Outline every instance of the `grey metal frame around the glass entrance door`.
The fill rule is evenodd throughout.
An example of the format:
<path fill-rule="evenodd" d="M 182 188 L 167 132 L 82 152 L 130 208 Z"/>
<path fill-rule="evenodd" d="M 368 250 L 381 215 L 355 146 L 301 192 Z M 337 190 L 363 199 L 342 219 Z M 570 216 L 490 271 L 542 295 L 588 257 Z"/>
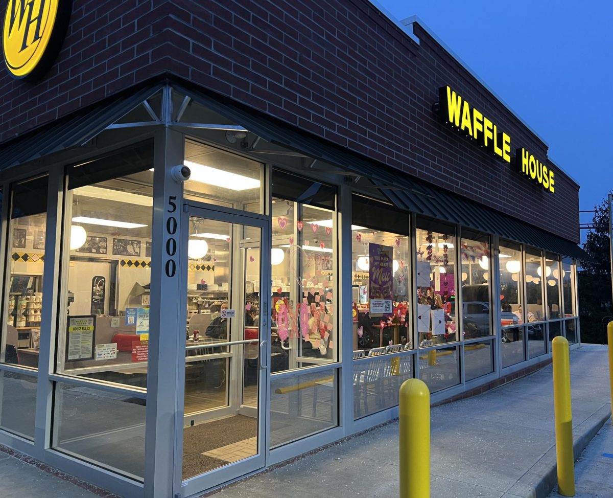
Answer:
<path fill-rule="evenodd" d="M 227 481 L 234 480 L 237 477 L 254 472 L 265 467 L 269 458 L 270 448 L 268 445 L 270 422 L 268 419 L 268 407 L 270 400 L 270 345 L 268 338 L 270 337 L 270 292 L 266 289 L 270 287 L 267 282 L 271 282 L 270 258 L 265 258 L 264 255 L 270 253 L 272 246 L 271 242 L 271 222 L 270 217 L 259 215 L 256 213 L 245 212 L 236 209 L 223 208 L 214 205 L 202 204 L 200 202 L 185 200 L 183 204 L 183 213 L 181 216 L 181 240 L 179 243 L 181 254 L 181 268 L 185 269 L 188 264 L 187 246 L 189 240 L 189 218 L 197 216 L 214 221 L 222 221 L 225 223 L 239 224 L 251 226 L 261 229 L 260 241 L 260 353 L 259 353 L 259 396 L 258 396 L 258 453 L 249 458 L 245 458 L 238 462 L 224 465 L 219 469 L 210 470 L 196 477 L 189 478 L 183 481 L 183 421 L 184 421 L 184 403 L 185 395 L 185 368 L 178 369 L 177 375 L 177 418 L 175 419 L 175 461 L 174 461 L 174 496 L 185 497 L 191 496 L 205 489 L 210 489 L 221 485 Z M 235 240 L 235 247 L 238 247 L 240 240 Z M 181 271 L 181 288 L 187 289 L 187 271 Z M 232 293 L 232 289 L 230 289 Z M 183 301 L 181 299 L 181 301 Z M 186 304 L 186 302 L 184 303 Z M 233 304 L 234 305 L 234 304 Z M 238 312 L 242 312 L 242 307 Z M 187 308 L 182 311 L 186 323 Z M 264 339 L 263 339 L 264 338 Z M 231 396 L 231 394 L 230 394 Z"/>

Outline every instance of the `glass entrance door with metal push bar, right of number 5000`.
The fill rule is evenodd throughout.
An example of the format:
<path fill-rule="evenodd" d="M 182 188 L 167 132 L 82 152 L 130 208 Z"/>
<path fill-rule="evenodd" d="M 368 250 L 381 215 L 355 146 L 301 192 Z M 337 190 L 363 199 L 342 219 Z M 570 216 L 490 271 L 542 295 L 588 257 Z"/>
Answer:
<path fill-rule="evenodd" d="M 270 232 L 263 216 L 190 206 L 181 494 L 264 467 Z"/>

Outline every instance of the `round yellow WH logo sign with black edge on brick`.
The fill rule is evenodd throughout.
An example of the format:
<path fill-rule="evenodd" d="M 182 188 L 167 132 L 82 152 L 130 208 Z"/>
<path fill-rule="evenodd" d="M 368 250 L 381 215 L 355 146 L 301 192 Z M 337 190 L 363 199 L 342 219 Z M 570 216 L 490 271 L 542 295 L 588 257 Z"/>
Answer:
<path fill-rule="evenodd" d="M 36 79 L 61 48 L 72 0 L 9 0 L 2 25 L 2 52 L 10 75 Z"/>

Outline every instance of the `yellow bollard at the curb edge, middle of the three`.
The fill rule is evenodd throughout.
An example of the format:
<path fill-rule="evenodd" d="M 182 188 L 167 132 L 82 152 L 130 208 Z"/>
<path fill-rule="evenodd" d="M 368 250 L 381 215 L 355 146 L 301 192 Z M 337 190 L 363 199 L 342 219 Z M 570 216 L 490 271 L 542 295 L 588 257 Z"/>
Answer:
<path fill-rule="evenodd" d="M 571 371 L 568 340 L 555 337 L 554 353 L 554 411 L 555 455 L 558 461 L 558 493 L 574 496 L 573 412 L 571 409 Z"/>

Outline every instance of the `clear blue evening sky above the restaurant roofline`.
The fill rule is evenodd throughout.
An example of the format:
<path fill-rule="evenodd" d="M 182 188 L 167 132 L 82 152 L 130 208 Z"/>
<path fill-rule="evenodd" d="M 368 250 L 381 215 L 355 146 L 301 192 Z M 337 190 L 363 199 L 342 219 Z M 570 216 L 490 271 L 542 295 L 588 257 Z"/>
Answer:
<path fill-rule="evenodd" d="M 378 2 L 421 18 L 545 140 L 581 185 L 580 209 L 613 190 L 613 1 Z"/>

